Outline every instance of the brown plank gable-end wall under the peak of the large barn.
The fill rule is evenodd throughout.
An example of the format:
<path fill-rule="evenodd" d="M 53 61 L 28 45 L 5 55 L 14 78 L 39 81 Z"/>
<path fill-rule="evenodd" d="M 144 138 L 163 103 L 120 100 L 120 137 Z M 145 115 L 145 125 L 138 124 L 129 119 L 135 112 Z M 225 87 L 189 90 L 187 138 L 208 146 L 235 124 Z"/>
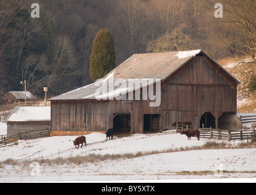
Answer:
<path fill-rule="evenodd" d="M 222 113 L 236 113 L 236 87 L 222 69 L 198 56 L 179 69 L 164 83 L 163 125 L 170 129 L 172 122 L 191 121 L 199 127 L 205 112 L 219 118 Z"/>

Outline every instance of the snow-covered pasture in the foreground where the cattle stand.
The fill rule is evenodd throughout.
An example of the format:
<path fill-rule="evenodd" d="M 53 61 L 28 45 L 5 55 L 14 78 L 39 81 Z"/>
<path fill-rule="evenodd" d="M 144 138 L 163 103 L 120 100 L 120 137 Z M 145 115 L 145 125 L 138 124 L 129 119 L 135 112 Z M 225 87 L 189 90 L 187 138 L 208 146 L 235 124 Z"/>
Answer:
<path fill-rule="evenodd" d="M 0 148 L 0 182 L 106 180 L 233 179 L 256 177 L 256 148 L 180 151 L 209 140 L 187 140 L 172 130 L 104 141 L 102 133 L 86 136 L 87 147 L 75 149 L 76 137 L 21 140 Z M 218 141 L 235 146 L 241 141 Z M 177 152 L 175 152 L 177 151 Z M 117 155 L 112 160 L 54 163 L 57 158 Z M 139 154 L 138 157 L 129 157 Z M 12 158 L 13 160 L 9 160 Z M 47 162 L 45 159 L 53 161 Z M 29 160 L 29 161 L 26 161 Z M 35 161 L 36 160 L 36 161 Z M 8 163 L 9 161 L 9 163 Z M 221 172 L 216 170 L 220 169 Z M 222 171 L 223 170 L 223 171 Z"/>

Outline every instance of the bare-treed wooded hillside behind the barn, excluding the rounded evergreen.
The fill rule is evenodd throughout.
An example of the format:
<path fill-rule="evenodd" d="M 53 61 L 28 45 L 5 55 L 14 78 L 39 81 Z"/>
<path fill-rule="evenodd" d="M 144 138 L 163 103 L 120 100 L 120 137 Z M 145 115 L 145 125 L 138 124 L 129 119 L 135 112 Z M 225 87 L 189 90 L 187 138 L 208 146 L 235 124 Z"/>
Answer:
<path fill-rule="evenodd" d="M 93 39 L 103 28 L 114 37 L 116 65 L 135 53 L 186 49 L 253 57 L 255 0 L 219 2 L 224 18 L 214 17 L 212 0 L 38 0 L 40 18 L 32 18 L 34 1 L 1 1 L 0 96 L 23 90 L 25 79 L 37 96 L 91 83 Z"/>

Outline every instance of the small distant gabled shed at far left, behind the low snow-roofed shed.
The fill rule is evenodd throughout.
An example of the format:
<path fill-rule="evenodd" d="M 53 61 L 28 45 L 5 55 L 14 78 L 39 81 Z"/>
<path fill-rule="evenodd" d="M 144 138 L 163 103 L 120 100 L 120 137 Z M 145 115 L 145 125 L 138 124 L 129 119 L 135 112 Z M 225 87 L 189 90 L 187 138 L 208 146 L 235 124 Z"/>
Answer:
<path fill-rule="evenodd" d="M 2 99 L 6 102 L 6 104 L 15 104 L 17 102 L 25 102 L 25 91 L 9 91 L 7 94 L 5 94 Z M 29 91 L 26 91 L 26 101 L 27 102 L 34 102 L 37 98 L 30 93 Z"/>

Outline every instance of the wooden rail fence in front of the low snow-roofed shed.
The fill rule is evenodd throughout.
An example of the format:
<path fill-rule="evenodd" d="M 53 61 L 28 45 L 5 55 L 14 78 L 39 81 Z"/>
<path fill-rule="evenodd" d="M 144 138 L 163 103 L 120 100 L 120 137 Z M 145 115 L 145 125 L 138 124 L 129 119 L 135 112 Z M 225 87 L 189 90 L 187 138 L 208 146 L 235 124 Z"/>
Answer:
<path fill-rule="evenodd" d="M 16 135 L 12 135 L 9 137 L 0 137 L 0 147 L 7 146 L 10 143 L 14 143 L 18 140 L 33 140 L 37 138 L 49 137 L 51 134 L 51 130 L 42 129 L 42 130 L 33 130 L 30 132 L 19 132 Z"/>

